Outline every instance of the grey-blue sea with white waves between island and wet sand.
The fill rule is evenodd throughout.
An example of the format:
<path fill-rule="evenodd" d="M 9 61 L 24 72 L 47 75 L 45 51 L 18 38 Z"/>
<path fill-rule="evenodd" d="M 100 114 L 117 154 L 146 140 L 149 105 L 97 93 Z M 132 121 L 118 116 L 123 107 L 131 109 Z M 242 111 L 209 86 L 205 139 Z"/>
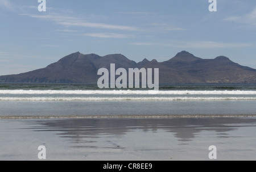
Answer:
<path fill-rule="evenodd" d="M 256 85 L 160 85 L 98 89 L 93 84 L 0 83 L 0 118 L 177 118 L 256 116 Z"/>

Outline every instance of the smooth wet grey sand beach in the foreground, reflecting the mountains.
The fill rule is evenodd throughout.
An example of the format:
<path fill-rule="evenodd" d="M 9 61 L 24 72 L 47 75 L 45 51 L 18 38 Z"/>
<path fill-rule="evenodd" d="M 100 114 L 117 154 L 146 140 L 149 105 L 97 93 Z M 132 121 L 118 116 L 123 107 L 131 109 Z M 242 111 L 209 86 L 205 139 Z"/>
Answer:
<path fill-rule="evenodd" d="M 256 118 L 1 119 L 0 160 L 256 160 Z"/>

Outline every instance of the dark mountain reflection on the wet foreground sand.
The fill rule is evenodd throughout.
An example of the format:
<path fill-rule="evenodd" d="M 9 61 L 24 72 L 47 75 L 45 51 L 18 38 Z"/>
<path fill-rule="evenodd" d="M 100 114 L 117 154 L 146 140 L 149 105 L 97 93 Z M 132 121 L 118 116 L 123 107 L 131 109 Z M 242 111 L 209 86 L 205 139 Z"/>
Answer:
<path fill-rule="evenodd" d="M 55 131 L 59 137 L 65 137 L 74 144 L 93 144 L 96 138 L 102 136 L 126 135 L 136 130 L 158 132 L 160 129 L 173 133 L 182 144 L 193 140 L 201 131 L 216 132 L 220 138 L 229 137 L 226 132 L 239 127 L 255 127 L 256 118 L 57 119 L 33 120 L 29 123 L 36 124 L 30 128 L 34 131 Z"/>

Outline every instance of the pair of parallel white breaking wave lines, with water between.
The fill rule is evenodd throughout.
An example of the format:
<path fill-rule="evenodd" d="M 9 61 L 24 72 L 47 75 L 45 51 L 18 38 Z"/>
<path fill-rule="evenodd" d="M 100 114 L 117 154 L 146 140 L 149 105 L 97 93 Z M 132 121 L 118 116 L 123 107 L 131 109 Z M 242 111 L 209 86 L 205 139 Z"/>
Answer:
<path fill-rule="evenodd" d="M 189 101 L 256 100 L 242 90 L 0 90 L 0 101 Z"/>

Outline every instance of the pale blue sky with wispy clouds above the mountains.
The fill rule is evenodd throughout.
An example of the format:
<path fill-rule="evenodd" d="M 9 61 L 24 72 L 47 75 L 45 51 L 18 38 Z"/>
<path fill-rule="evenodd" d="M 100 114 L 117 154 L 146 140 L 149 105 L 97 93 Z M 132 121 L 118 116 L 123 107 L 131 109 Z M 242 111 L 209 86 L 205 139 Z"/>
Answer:
<path fill-rule="evenodd" d="M 180 51 L 256 69 L 256 1 L 0 0 L 0 75 L 45 68 L 68 54 L 167 61 Z"/>

